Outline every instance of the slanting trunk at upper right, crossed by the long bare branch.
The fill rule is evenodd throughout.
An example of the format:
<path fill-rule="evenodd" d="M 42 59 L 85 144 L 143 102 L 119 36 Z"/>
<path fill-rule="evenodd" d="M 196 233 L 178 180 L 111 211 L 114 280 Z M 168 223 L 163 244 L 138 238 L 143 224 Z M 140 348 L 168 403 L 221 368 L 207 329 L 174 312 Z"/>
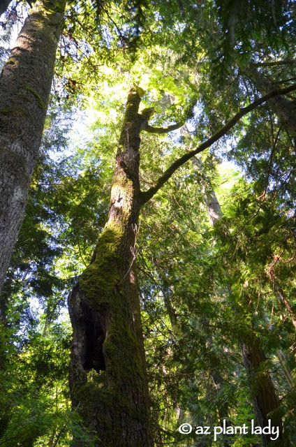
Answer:
<path fill-rule="evenodd" d="M 244 73 L 253 81 L 260 94 L 266 95 L 276 89 L 276 84 L 266 78 L 255 66 L 245 68 Z M 281 119 L 281 122 L 287 126 L 293 138 L 296 138 L 296 103 L 283 96 L 276 96 L 276 98 L 269 100 L 269 105 Z"/>

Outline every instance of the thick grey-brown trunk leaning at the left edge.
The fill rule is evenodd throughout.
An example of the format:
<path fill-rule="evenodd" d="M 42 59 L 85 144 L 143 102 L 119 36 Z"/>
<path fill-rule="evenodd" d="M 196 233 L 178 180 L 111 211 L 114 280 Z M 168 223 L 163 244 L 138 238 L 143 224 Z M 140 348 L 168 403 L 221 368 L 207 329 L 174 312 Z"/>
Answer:
<path fill-rule="evenodd" d="M 24 218 L 64 6 L 35 3 L 0 76 L 0 291 Z"/>

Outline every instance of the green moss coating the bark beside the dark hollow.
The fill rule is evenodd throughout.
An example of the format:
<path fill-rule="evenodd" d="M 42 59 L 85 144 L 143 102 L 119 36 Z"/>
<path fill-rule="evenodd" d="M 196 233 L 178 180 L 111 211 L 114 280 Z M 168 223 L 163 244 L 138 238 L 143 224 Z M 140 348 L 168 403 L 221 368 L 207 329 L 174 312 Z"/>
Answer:
<path fill-rule="evenodd" d="M 78 399 L 87 396 L 88 402 L 93 402 L 89 395 L 99 393 L 99 400 L 107 406 L 110 404 L 118 409 L 121 407 L 127 413 L 131 413 L 132 418 L 142 419 L 147 414 L 139 414 L 136 407 L 131 405 L 130 393 L 124 393 L 124 387 L 137 391 L 142 395 L 142 363 L 138 353 L 138 340 L 135 331 L 126 322 L 129 318 L 124 317 L 130 314 L 130 303 L 123 290 L 123 268 L 121 261 L 121 245 L 123 243 L 124 229 L 121 224 L 112 221 L 101 233 L 96 245 L 96 259 L 94 263 L 82 274 L 80 288 L 87 301 L 91 302 L 97 309 L 100 305 L 110 306 L 110 331 L 104 342 L 104 351 L 107 359 L 107 374 L 111 374 L 112 380 L 105 380 L 106 372 L 100 372 L 100 380 L 92 380 L 79 388 Z M 120 346 L 120 349 L 119 349 Z M 129 362 L 124 359 L 130 359 Z M 102 382 L 104 383 L 102 389 Z M 98 410 L 97 410 L 98 411 Z M 100 411 L 101 413 L 101 411 Z M 103 417 L 103 415 L 101 415 Z M 100 420 L 101 420 L 100 416 Z"/>

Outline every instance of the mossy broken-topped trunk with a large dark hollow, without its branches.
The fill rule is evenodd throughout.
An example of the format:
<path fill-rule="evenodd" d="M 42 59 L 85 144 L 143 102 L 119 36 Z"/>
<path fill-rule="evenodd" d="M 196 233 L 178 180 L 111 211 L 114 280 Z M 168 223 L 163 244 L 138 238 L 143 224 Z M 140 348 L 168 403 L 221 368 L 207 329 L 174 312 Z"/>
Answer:
<path fill-rule="evenodd" d="M 108 221 L 68 300 L 73 406 L 80 404 L 83 425 L 100 447 L 153 445 L 133 256 L 140 210 L 140 94 L 138 87 L 128 94 Z M 88 373 L 91 369 L 96 373 Z M 85 444 L 75 439 L 73 445 Z"/>

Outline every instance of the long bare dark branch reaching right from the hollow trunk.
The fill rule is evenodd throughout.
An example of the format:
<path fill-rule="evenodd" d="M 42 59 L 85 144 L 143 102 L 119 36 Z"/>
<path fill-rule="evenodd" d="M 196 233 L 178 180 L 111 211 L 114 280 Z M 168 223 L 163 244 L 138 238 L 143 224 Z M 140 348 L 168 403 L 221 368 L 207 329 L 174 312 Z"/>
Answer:
<path fill-rule="evenodd" d="M 262 105 L 266 101 L 268 101 L 270 98 L 274 98 L 275 96 L 287 94 L 290 91 L 296 90 L 296 84 L 290 85 L 290 87 L 286 87 L 285 89 L 276 89 L 274 91 L 270 91 L 269 94 L 266 94 L 265 96 L 262 96 L 259 99 L 256 99 L 256 101 L 253 101 L 253 103 L 247 105 L 246 107 L 243 107 L 237 112 L 237 114 L 232 117 L 219 131 L 214 133 L 212 137 L 210 137 L 205 142 L 202 142 L 196 149 L 193 149 L 192 151 L 186 152 L 183 156 L 181 156 L 179 159 L 175 160 L 167 170 L 161 175 L 161 177 L 158 178 L 154 186 L 151 186 L 150 189 L 147 191 L 142 191 L 140 193 L 140 201 L 141 205 L 144 205 L 147 203 L 154 194 L 158 191 L 158 189 L 161 189 L 161 187 L 165 184 L 165 182 L 172 177 L 172 175 L 175 173 L 175 171 L 180 168 L 186 161 L 190 160 L 193 156 L 196 154 L 199 154 L 200 152 L 204 151 L 208 147 L 212 146 L 212 144 L 216 141 L 218 141 L 220 138 L 222 138 L 230 129 L 232 129 L 237 122 L 239 122 L 239 119 L 244 117 L 247 113 L 251 112 L 251 110 L 254 110 L 259 105 Z"/>

